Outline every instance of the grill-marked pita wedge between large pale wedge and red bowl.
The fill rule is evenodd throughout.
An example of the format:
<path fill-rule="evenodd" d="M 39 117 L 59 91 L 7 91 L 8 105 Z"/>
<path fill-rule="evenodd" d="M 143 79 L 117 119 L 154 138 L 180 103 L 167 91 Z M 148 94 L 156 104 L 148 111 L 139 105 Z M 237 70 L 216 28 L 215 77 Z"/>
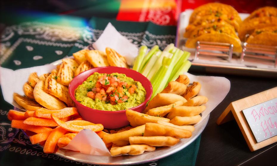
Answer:
<path fill-rule="evenodd" d="M 45 80 L 44 91 L 59 98 L 61 101 L 65 102 L 68 107 L 74 107 L 75 104 L 69 96 L 68 87 L 59 84 L 56 79 L 57 75 L 51 73 Z"/>

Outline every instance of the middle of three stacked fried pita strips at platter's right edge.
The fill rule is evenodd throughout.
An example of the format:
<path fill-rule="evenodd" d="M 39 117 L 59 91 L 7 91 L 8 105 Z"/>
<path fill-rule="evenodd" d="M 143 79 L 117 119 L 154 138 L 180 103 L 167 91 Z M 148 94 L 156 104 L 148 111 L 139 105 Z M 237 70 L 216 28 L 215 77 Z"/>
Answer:
<path fill-rule="evenodd" d="M 206 109 L 205 106 L 177 106 L 172 108 L 166 118 L 173 119 L 175 116 L 195 116 Z"/>

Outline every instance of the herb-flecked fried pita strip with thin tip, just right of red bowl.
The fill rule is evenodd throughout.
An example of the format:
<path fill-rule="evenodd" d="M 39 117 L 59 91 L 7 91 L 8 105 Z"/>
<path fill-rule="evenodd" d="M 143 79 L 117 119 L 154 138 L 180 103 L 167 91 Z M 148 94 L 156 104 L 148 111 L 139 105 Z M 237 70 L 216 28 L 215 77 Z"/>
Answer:
<path fill-rule="evenodd" d="M 183 105 L 183 101 L 176 101 L 175 103 L 169 104 L 167 106 L 149 109 L 148 112 L 146 112 L 146 114 L 151 116 L 159 115 L 160 117 L 164 117 L 166 114 L 168 114 L 171 111 L 172 108 L 176 106 L 181 106 L 181 105 Z"/>

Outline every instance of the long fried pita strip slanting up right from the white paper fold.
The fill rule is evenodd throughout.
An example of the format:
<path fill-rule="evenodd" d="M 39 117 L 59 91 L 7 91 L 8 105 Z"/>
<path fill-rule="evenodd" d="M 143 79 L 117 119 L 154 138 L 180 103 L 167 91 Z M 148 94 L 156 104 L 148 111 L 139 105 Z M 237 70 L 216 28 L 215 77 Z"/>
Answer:
<path fill-rule="evenodd" d="M 120 133 L 107 134 L 103 136 L 103 141 L 107 144 L 118 140 L 129 141 L 131 136 L 142 136 L 144 133 L 145 125 L 135 127 L 133 129 L 122 131 Z"/>

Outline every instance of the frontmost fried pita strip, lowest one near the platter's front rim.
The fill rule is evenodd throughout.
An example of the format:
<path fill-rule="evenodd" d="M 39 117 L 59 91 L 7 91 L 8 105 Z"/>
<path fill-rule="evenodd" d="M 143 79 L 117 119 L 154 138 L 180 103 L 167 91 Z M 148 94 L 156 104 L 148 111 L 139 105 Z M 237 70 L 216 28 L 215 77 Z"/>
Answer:
<path fill-rule="evenodd" d="M 128 145 L 123 147 L 112 147 L 110 152 L 112 156 L 117 156 L 119 154 L 129 154 L 129 155 L 139 155 L 143 154 L 145 151 L 155 151 L 155 147 L 149 145 Z"/>

